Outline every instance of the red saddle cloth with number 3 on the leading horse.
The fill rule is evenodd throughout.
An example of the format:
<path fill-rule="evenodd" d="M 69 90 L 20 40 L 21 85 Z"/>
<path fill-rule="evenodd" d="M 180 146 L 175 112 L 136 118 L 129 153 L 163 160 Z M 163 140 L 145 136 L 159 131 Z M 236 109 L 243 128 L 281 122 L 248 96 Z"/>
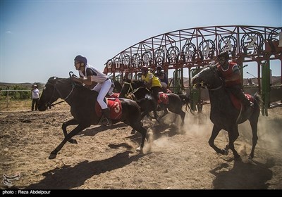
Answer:
<path fill-rule="evenodd" d="M 106 105 L 110 109 L 111 120 L 118 120 L 121 118 L 123 109 L 121 107 L 121 101 L 118 98 L 104 98 Z M 98 117 L 102 117 L 102 108 L 98 102 L 95 103 L 95 112 Z"/>

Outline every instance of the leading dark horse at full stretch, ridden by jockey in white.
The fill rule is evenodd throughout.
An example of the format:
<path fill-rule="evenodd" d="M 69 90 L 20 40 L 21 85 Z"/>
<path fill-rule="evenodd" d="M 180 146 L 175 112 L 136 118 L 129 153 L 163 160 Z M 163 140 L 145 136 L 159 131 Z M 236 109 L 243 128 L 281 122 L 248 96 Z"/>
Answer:
<path fill-rule="evenodd" d="M 63 122 L 62 129 L 65 138 L 57 146 L 54 151 L 51 152 L 49 159 L 56 158 L 56 154 L 63 148 L 67 141 L 77 144 L 75 139 L 71 139 L 73 136 L 82 132 L 83 129 L 90 127 L 90 125 L 98 125 L 100 117 L 95 110 L 95 103 L 97 103 L 97 91 L 90 91 L 82 85 L 75 84 L 71 78 L 58 78 L 50 77 L 47 84 L 44 87 L 41 97 L 39 98 L 38 109 L 40 111 L 46 110 L 47 107 L 51 108 L 51 104 L 58 98 L 62 98 L 71 106 L 71 114 L 73 119 Z M 142 127 L 140 107 L 135 101 L 130 99 L 120 99 L 121 106 L 116 105 L 115 110 L 122 108 L 121 116 L 116 120 L 112 120 L 113 124 L 116 122 L 124 122 L 130 125 L 137 132 L 142 134 L 142 140 L 140 151 L 145 143 L 147 129 Z M 98 104 L 99 105 L 99 104 Z M 66 127 L 69 125 L 78 125 L 71 132 L 67 132 Z"/>

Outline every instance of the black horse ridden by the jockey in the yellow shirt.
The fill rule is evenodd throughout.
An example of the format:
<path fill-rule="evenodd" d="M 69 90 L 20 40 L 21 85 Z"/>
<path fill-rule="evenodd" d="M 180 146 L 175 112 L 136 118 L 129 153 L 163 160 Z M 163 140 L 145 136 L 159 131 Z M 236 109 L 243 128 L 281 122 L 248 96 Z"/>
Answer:
<path fill-rule="evenodd" d="M 130 95 L 134 95 L 135 98 L 141 99 L 145 98 L 146 95 L 152 96 L 151 91 L 145 87 L 145 84 L 142 81 L 138 80 L 125 80 L 123 84 L 123 88 L 121 89 L 120 98 L 127 98 Z M 168 96 L 168 103 L 163 104 L 163 108 L 157 108 L 157 110 L 164 110 L 164 115 L 168 113 L 168 110 L 172 113 L 176 113 L 180 115 L 181 117 L 181 126 L 184 125 L 184 118 L 185 118 L 185 112 L 182 110 L 182 99 L 177 95 L 173 93 L 166 93 Z M 164 117 L 162 115 L 161 117 Z M 175 117 L 176 118 L 176 117 Z M 176 122 L 176 119 L 174 120 Z"/>

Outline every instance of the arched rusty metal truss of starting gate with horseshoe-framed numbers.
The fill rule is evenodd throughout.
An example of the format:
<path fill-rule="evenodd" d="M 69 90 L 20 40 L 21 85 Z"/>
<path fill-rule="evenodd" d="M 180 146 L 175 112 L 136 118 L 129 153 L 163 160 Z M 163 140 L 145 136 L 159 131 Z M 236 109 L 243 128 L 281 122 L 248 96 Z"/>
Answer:
<path fill-rule="evenodd" d="M 190 76 L 191 68 L 215 63 L 221 51 L 228 51 L 242 69 L 244 62 L 257 62 L 257 76 L 262 61 L 280 60 L 282 72 L 282 27 L 226 25 L 159 34 L 109 59 L 104 73 L 133 79 L 143 65 L 152 70 L 161 65 L 165 72 L 188 68 Z M 180 79 L 183 88 L 183 72 Z"/>

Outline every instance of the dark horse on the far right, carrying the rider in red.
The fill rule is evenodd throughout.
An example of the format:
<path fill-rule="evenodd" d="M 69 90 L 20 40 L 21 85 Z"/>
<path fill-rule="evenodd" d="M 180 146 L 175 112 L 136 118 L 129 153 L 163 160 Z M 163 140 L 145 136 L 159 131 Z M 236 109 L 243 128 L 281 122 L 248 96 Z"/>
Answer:
<path fill-rule="evenodd" d="M 210 119 L 214 123 L 212 136 L 209 139 L 209 146 L 212 146 L 216 153 L 223 155 L 228 154 L 228 148 L 233 151 L 235 159 L 240 158 L 240 155 L 235 151 L 234 141 L 238 138 L 238 124 L 250 121 L 252 127 L 252 151 L 249 159 L 254 158 L 255 146 L 257 144 L 257 122 L 259 119 L 259 106 L 262 105 L 262 98 L 259 94 L 251 96 L 252 102 L 255 104 L 251 111 L 245 112 L 235 108 L 231 101 L 231 97 L 224 87 L 221 77 L 215 65 L 206 66 L 201 72 L 192 77 L 194 87 L 200 88 L 201 85 L 209 89 L 209 98 L 211 102 Z M 228 132 L 229 143 L 226 148 L 219 149 L 214 145 L 214 139 L 219 134 L 221 129 Z"/>

